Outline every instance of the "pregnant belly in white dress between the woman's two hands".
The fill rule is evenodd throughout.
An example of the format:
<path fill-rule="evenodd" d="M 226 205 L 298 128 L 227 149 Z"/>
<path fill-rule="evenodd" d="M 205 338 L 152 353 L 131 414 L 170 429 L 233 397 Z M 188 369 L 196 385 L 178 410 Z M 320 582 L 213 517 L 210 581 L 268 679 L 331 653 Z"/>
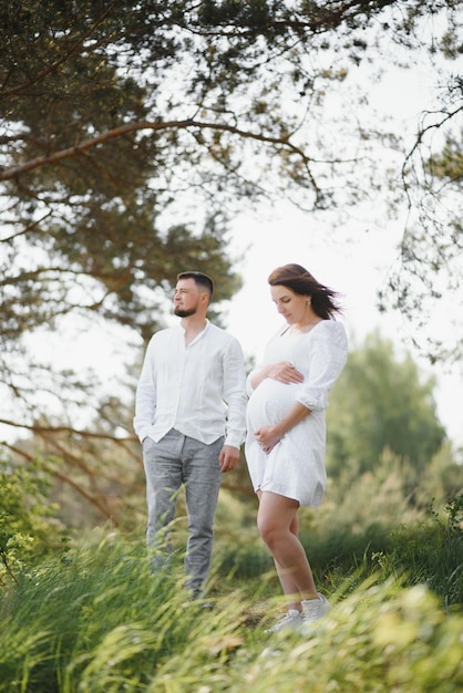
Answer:
<path fill-rule="evenodd" d="M 254 430 L 271 426 L 282 418 L 296 401 L 300 385 L 287 385 L 271 377 L 264 380 L 248 402 L 249 423 Z"/>

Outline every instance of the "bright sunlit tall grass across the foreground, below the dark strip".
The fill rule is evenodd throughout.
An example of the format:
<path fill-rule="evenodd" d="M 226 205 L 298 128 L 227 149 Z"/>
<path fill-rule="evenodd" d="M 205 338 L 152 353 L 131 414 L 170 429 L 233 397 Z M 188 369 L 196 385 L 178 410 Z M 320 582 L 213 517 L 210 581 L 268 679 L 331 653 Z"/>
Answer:
<path fill-rule="evenodd" d="M 450 544 L 460 537 L 453 531 Z M 2 594 L 0 691 L 462 690 L 463 616 L 424 585 L 408 586 L 399 569 L 388 577 L 390 566 L 372 570 L 364 558 L 347 578 L 328 573 L 333 609 L 312 632 L 269 637 L 264 627 L 282 604 L 268 557 L 244 536 L 232 546 L 216 546 L 212 611 L 186 599 L 179 557 L 168 572 L 150 575 L 141 542 L 97 534 L 42 560 Z M 403 546 L 392 539 L 404 565 Z M 327 557 L 315 559 L 325 565 Z"/>

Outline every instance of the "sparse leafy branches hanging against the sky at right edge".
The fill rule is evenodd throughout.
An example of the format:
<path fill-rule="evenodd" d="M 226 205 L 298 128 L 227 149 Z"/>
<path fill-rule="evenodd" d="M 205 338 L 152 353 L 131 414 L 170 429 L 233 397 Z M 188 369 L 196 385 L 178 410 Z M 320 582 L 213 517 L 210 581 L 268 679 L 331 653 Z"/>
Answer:
<path fill-rule="evenodd" d="M 455 35 L 450 40 L 447 50 L 453 55 Z M 392 306 L 413 320 L 415 345 L 431 363 L 457 362 L 462 358 L 461 320 L 455 311 L 463 301 L 462 95 L 463 79 L 456 75 L 439 108 L 423 114 L 416 142 L 402 168 L 409 221 L 397 266 L 379 296 L 383 310 Z M 449 123 L 453 124 L 450 130 Z M 442 142 L 442 148 L 435 146 L 435 141 Z M 450 297 L 450 303 L 444 302 L 445 297 Z M 443 321 L 445 313 L 451 317 Z"/>

